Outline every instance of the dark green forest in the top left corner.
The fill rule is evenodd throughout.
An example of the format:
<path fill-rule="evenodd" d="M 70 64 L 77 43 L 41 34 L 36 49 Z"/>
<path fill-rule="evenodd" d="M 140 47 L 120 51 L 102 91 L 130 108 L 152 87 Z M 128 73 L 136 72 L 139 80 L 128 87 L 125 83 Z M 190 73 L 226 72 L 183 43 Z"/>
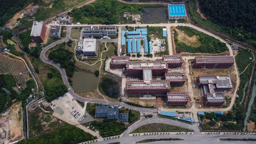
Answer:
<path fill-rule="evenodd" d="M 1 0 L 0 4 L 0 27 L 3 26 L 7 20 L 13 17 L 15 13 L 26 7 L 29 3 L 34 4 L 40 0 Z"/>

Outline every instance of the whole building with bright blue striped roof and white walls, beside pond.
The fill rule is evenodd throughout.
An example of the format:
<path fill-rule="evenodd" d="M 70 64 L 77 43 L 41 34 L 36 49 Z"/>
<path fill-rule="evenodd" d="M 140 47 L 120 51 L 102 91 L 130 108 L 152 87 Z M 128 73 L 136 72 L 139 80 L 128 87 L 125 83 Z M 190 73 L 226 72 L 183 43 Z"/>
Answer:
<path fill-rule="evenodd" d="M 186 17 L 186 9 L 184 4 L 169 4 L 168 18 L 169 20 L 184 20 Z"/>

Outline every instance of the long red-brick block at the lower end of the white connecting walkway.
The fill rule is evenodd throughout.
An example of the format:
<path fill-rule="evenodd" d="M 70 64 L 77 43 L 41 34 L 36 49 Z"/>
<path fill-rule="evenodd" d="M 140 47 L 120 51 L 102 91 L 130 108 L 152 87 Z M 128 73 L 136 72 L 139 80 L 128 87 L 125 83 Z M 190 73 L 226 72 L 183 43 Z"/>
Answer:
<path fill-rule="evenodd" d="M 166 95 L 171 89 L 170 81 L 152 80 L 145 83 L 143 80 L 126 81 L 126 94 L 139 95 Z"/>

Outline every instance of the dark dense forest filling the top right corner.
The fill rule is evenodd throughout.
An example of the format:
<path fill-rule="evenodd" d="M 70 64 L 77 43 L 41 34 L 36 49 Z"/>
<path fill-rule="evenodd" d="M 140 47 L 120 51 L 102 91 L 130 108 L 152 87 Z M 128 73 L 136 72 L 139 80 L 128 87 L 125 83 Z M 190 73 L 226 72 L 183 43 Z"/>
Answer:
<path fill-rule="evenodd" d="M 226 32 L 233 38 L 255 44 L 255 0 L 198 0 L 198 2 L 201 12 L 208 20 L 229 28 Z"/>

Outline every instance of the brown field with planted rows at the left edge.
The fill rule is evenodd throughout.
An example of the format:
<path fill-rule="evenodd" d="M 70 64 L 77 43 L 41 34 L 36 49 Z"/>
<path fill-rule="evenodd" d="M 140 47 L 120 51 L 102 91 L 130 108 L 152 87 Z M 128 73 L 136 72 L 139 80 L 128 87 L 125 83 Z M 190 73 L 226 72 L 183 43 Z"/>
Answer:
<path fill-rule="evenodd" d="M 0 54 L 0 74 L 15 76 L 18 84 L 30 79 L 30 74 L 23 61 Z"/>

